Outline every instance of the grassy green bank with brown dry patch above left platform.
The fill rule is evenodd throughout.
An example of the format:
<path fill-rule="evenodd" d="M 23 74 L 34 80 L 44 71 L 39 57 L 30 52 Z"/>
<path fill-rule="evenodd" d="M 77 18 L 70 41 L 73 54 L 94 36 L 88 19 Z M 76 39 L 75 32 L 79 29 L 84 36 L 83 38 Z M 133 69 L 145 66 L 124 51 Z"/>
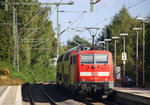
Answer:
<path fill-rule="evenodd" d="M 0 76 L 0 85 L 20 85 L 25 82 L 36 83 L 43 81 L 55 81 L 55 67 L 34 65 L 33 67 L 20 67 L 20 71 L 13 69 L 13 65 L 0 62 L 0 67 L 9 70 L 9 75 Z M 2 82 L 5 81 L 5 82 Z"/>

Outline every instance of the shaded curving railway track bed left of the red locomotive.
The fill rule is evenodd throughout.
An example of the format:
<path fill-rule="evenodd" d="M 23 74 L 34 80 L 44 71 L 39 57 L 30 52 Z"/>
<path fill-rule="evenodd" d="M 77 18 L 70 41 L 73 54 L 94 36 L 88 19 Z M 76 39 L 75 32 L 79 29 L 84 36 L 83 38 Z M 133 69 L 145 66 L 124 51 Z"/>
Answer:
<path fill-rule="evenodd" d="M 70 91 L 53 83 L 30 84 L 28 86 L 30 105 L 117 105 L 111 101 L 97 101 L 73 96 Z"/>

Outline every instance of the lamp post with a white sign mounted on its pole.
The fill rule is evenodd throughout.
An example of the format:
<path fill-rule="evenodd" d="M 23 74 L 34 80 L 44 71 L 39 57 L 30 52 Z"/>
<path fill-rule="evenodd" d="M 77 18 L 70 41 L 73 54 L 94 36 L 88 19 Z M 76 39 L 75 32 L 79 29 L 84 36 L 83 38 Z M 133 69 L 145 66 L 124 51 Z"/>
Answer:
<path fill-rule="evenodd" d="M 123 77 L 125 77 L 125 72 L 126 72 L 126 58 L 127 58 L 127 54 L 125 51 L 125 37 L 128 36 L 128 33 L 121 33 L 120 36 L 123 36 L 123 53 L 122 53 L 122 60 L 123 60 Z"/>

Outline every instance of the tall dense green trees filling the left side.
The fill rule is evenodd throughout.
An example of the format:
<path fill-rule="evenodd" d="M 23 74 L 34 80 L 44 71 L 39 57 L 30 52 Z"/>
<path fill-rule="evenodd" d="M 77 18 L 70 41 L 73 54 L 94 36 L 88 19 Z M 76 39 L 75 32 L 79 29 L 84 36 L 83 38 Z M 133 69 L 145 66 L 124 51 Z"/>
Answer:
<path fill-rule="evenodd" d="M 15 0 L 13 2 L 33 3 L 38 0 Z M 19 5 L 15 8 L 17 22 L 23 23 L 23 25 L 18 25 L 17 32 L 20 72 L 12 66 L 14 59 L 12 25 L 0 24 L 0 67 L 7 67 L 11 72 L 10 76 L 26 82 L 55 80 L 55 69 L 49 67 L 49 61 L 56 56 L 57 48 L 52 22 L 48 19 L 50 8 L 40 5 Z M 0 1 L 0 23 L 12 23 L 12 10 L 13 7 L 9 5 L 6 12 Z"/>

